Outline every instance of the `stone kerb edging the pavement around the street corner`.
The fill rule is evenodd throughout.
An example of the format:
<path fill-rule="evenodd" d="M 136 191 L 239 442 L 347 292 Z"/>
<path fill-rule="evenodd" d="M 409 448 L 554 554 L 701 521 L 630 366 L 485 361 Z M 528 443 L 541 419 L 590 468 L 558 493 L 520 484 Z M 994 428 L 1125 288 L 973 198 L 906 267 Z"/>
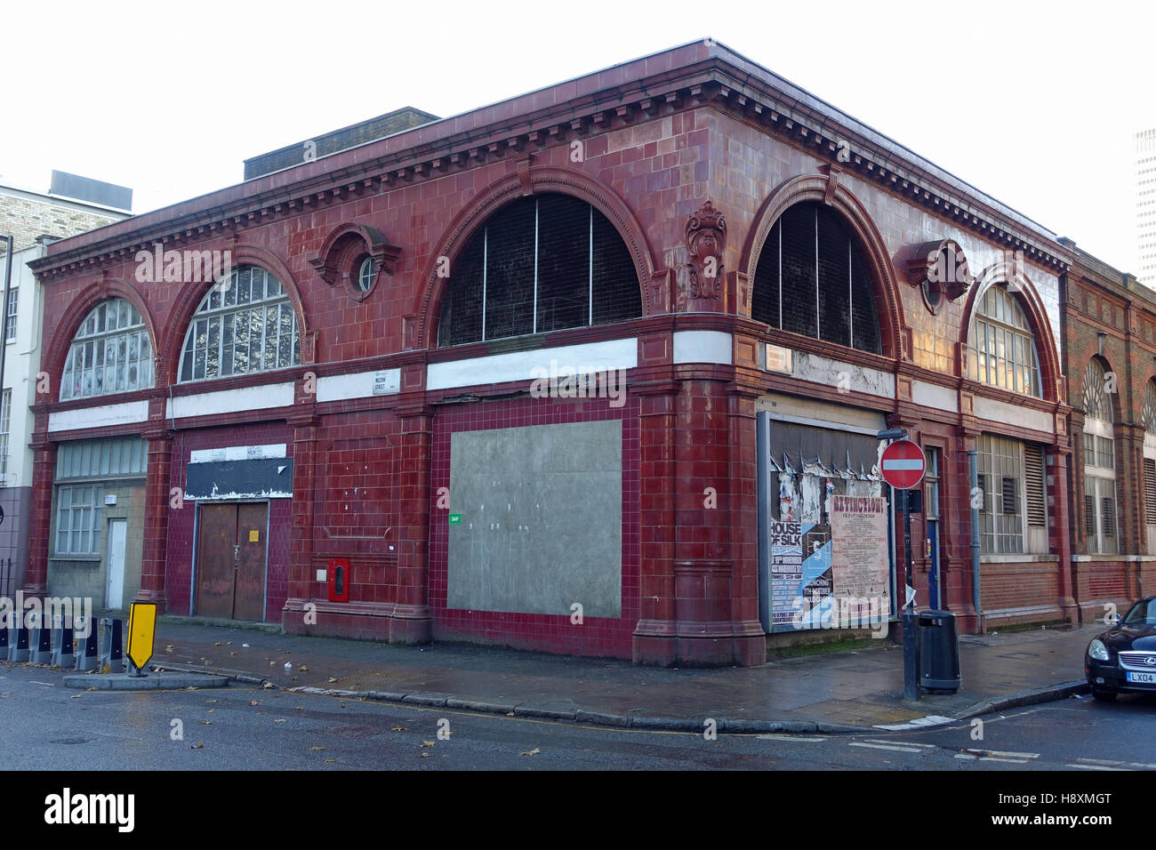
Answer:
<path fill-rule="evenodd" d="M 188 673 L 205 674 L 206 671 L 195 667 L 175 667 L 166 665 L 166 671 L 181 671 Z M 258 685 L 267 688 L 281 688 L 281 686 L 258 677 L 232 673 L 229 671 L 213 671 L 213 674 L 224 677 L 228 680 L 245 685 Z M 90 677 L 84 677 L 90 679 Z M 453 694 L 439 693 L 415 693 L 415 692 L 387 692 L 387 690 L 343 690 L 340 688 L 318 688 L 310 685 L 299 685 L 284 688 L 299 694 L 313 694 L 314 696 L 336 696 L 342 700 L 368 700 L 372 702 L 390 702 L 401 705 L 418 705 L 422 708 L 452 708 L 480 714 L 494 714 L 514 717 L 533 717 L 538 719 L 557 720 L 563 723 L 581 723 L 594 726 L 607 726 L 618 729 L 644 729 L 649 731 L 664 732 L 688 732 L 702 733 L 705 726 L 703 719 L 688 719 L 684 717 L 644 717 L 639 715 L 606 715 L 596 711 L 585 711 L 576 709 L 572 711 L 560 711 L 556 709 L 540 708 L 527 703 L 492 703 L 480 700 L 460 699 Z M 1040 688 L 1016 692 L 995 700 L 985 700 L 972 703 L 959 711 L 955 717 L 941 723 L 920 724 L 920 729 L 932 729 L 946 726 L 951 723 L 978 717 L 992 711 L 1003 711 L 1022 705 L 1035 705 L 1042 702 L 1064 700 L 1072 694 L 1085 693 L 1090 688 L 1083 680 L 1062 682 Z M 713 718 L 717 729 L 722 734 L 879 734 L 876 726 L 853 726 L 838 723 L 823 723 L 820 720 L 757 720 L 749 718 Z"/>

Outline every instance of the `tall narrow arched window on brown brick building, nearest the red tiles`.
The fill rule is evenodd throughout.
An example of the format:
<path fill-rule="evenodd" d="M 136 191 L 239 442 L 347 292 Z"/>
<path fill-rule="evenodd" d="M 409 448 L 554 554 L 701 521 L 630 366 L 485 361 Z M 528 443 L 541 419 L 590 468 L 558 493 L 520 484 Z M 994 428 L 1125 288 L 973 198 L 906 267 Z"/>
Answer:
<path fill-rule="evenodd" d="M 1089 554 L 1117 552 L 1113 389 L 1103 364 L 1090 360 L 1083 383 L 1084 534 Z"/>

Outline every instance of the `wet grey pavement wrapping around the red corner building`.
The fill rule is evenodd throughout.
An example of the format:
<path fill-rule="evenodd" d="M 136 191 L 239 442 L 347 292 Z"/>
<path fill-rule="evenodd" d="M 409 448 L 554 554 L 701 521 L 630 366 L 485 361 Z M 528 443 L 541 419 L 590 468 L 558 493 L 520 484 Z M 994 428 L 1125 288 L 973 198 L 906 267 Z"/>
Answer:
<path fill-rule="evenodd" d="M 919 701 L 904 699 L 903 649 L 887 640 L 758 667 L 659 668 L 460 643 L 298 637 L 161 616 L 149 666 L 351 700 L 606 726 L 702 731 L 713 719 L 719 732 L 852 733 L 938 725 L 1087 694 L 1083 652 L 1103 629 L 963 635 L 961 689 Z"/>

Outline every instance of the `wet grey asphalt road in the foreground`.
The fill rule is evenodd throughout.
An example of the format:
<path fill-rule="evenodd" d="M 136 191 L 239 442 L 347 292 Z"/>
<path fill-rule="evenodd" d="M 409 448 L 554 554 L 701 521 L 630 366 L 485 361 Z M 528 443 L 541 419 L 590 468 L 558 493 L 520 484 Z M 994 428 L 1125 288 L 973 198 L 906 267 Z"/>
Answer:
<path fill-rule="evenodd" d="M 228 687 L 74 690 L 0 665 L 9 770 L 1156 770 L 1156 697 L 858 736 L 625 731 Z"/>

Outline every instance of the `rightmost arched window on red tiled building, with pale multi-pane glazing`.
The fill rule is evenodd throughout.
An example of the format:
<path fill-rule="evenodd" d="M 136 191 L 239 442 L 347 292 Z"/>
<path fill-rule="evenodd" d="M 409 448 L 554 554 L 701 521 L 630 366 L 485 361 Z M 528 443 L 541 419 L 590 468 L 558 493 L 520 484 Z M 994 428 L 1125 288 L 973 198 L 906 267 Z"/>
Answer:
<path fill-rule="evenodd" d="M 990 287 L 976 304 L 968 331 L 968 374 L 992 386 L 1042 396 L 1031 326 L 1002 283 Z"/>

